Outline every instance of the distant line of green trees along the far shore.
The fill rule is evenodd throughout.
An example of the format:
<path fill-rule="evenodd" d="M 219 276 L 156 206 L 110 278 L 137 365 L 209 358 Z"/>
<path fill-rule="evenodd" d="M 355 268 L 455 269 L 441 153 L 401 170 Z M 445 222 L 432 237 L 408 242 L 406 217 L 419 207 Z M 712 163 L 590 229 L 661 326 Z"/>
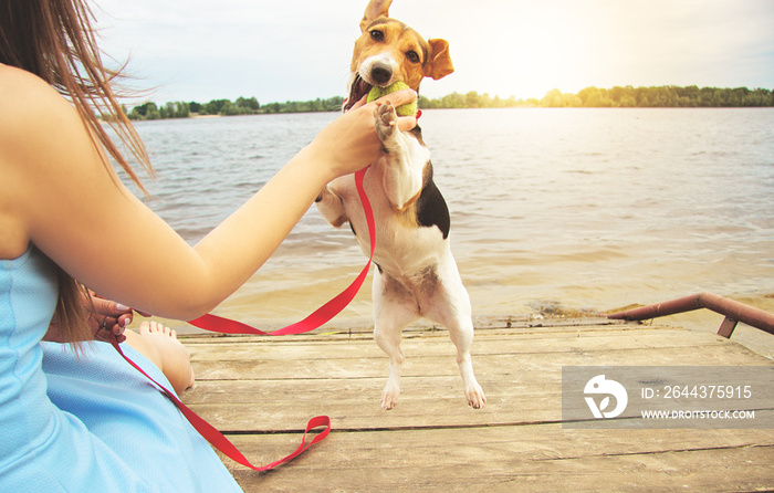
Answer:
<path fill-rule="evenodd" d="M 130 119 L 188 118 L 192 115 L 260 115 L 274 113 L 338 112 L 344 98 L 287 101 L 261 105 L 255 97 L 239 97 L 237 101 L 212 99 L 209 103 L 174 102 L 157 106 L 145 103 L 127 113 Z M 467 94 L 451 93 L 443 97 L 419 97 L 419 107 L 433 108 L 511 108 L 511 107 L 760 107 L 774 106 L 774 93 L 766 88 L 747 87 L 718 88 L 695 85 L 625 87 L 586 87 L 577 94 L 550 91 L 542 99 L 516 99 L 515 96 L 501 98 L 488 93 L 471 91 Z"/>

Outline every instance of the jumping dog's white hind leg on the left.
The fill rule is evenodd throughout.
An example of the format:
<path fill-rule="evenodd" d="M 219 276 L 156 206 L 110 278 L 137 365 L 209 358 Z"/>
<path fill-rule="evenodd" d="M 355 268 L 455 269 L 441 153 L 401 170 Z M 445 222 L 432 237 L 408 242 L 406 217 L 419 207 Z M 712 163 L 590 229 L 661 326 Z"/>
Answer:
<path fill-rule="evenodd" d="M 408 290 L 390 276 L 374 273 L 374 339 L 389 356 L 389 377 L 381 392 L 381 409 L 393 409 L 400 396 L 404 327 L 419 318 L 417 302 Z"/>

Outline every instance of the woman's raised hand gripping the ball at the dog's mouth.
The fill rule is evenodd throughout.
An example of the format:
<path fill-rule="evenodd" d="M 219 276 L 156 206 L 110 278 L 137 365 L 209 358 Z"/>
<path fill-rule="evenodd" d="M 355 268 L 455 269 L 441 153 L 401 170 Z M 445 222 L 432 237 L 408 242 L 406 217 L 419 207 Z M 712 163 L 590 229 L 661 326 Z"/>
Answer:
<path fill-rule="evenodd" d="M 316 160 L 330 166 L 331 179 L 355 172 L 378 159 L 384 151 L 376 134 L 374 108 L 387 102 L 398 107 L 416 99 L 417 93 L 412 90 L 396 91 L 370 103 L 366 103 L 364 96 L 352 109 L 323 128 L 307 150 L 314 153 Z M 416 117 L 398 117 L 399 130 L 410 130 L 416 126 Z"/>

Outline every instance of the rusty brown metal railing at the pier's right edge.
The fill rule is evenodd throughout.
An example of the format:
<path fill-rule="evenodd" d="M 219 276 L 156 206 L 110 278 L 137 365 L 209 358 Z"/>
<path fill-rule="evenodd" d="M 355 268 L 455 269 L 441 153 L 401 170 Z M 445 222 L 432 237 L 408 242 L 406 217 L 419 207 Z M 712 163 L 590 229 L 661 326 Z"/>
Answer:
<path fill-rule="evenodd" d="M 711 310 L 721 315 L 725 315 L 725 319 L 723 319 L 723 323 L 718 329 L 718 334 L 725 338 L 731 337 L 734 328 L 736 328 L 736 324 L 740 322 L 760 328 L 768 334 L 774 334 L 774 314 L 712 293 L 692 294 L 690 296 L 683 296 L 641 308 L 627 310 L 626 312 L 608 315 L 608 318 L 647 321 L 700 308 Z"/>

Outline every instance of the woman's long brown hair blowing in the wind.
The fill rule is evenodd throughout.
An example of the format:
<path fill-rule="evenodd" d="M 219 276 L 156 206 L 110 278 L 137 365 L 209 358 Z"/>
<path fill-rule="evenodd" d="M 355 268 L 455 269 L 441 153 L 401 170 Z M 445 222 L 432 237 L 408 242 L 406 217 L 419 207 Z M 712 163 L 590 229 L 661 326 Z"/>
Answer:
<path fill-rule="evenodd" d="M 139 178 L 102 125 L 102 118 L 149 175 L 145 145 L 114 93 L 123 67 L 102 63 L 92 27 L 94 15 L 84 0 L 0 0 L 0 63 L 31 72 L 69 98 L 95 146 L 107 154 L 145 190 Z M 111 162 L 104 161 L 106 167 Z M 85 291 L 60 269 L 60 295 L 53 322 L 67 340 L 92 338 L 83 308 Z"/>

